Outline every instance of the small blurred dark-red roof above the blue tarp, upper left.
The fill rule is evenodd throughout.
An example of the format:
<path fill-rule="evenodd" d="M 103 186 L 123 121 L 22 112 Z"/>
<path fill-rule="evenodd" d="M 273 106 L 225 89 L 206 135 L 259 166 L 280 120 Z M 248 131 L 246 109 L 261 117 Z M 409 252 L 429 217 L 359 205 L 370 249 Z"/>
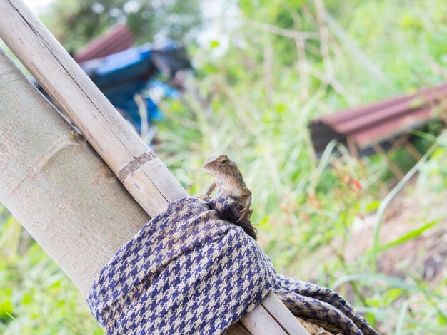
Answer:
<path fill-rule="evenodd" d="M 74 59 L 76 62 L 81 63 L 89 61 L 89 59 L 109 56 L 112 53 L 130 48 L 134 40 L 134 33 L 128 26 L 117 24 L 76 52 Z"/>

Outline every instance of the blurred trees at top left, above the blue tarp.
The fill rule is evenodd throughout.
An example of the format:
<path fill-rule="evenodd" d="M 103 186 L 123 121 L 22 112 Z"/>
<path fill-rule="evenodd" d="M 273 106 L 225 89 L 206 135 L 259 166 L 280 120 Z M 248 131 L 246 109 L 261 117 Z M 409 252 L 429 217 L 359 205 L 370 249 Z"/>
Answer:
<path fill-rule="evenodd" d="M 69 51 L 124 22 L 138 43 L 156 38 L 181 41 L 201 24 L 199 4 L 199 0 L 56 0 L 41 20 Z"/>

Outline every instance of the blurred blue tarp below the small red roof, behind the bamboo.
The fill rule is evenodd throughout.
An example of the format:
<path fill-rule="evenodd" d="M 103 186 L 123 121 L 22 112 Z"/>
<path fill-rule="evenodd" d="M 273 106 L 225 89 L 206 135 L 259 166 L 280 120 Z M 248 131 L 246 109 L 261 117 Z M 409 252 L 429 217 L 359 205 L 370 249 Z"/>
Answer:
<path fill-rule="evenodd" d="M 159 48 L 144 44 L 80 63 L 79 66 L 104 96 L 139 130 L 141 120 L 134 95 L 159 87 L 165 96 L 173 96 L 176 93 L 175 88 L 154 78 L 159 73 L 163 73 L 168 79 L 174 78 L 177 71 L 191 68 L 191 63 L 182 46 L 169 43 Z M 39 90 L 43 91 L 41 88 Z M 147 120 L 150 123 L 154 118 L 160 118 L 161 113 L 154 101 L 147 97 L 145 99 Z"/>

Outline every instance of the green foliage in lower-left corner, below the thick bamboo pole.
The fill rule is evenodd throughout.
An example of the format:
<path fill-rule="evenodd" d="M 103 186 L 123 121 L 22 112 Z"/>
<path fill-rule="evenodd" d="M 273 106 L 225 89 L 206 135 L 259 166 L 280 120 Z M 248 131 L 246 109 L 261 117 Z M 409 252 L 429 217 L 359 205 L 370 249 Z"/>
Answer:
<path fill-rule="evenodd" d="M 0 259 L 1 334 L 103 334 L 66 274 L 11 216 L 0 225 Z"/>

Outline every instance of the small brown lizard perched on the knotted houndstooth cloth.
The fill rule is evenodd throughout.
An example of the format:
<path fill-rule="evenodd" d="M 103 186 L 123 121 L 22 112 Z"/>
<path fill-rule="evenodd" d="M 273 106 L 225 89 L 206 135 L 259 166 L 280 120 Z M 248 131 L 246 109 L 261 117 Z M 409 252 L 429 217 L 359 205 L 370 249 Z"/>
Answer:
<path fill-rule="evenodd" d="M 241 171 L 236 163 L 230 160 L 227 155 L 211 156 L 204 163 L 204 169 L 216 180 L 211 184 L 202 199 L 208 198 L 217 187 L 216 195 L 218 197 L 231 196 L 241 202 L 243 210 L 241 211 L 241 220 L 250 220 L 251 212 L 251 191 L 246 187 Z"/>

